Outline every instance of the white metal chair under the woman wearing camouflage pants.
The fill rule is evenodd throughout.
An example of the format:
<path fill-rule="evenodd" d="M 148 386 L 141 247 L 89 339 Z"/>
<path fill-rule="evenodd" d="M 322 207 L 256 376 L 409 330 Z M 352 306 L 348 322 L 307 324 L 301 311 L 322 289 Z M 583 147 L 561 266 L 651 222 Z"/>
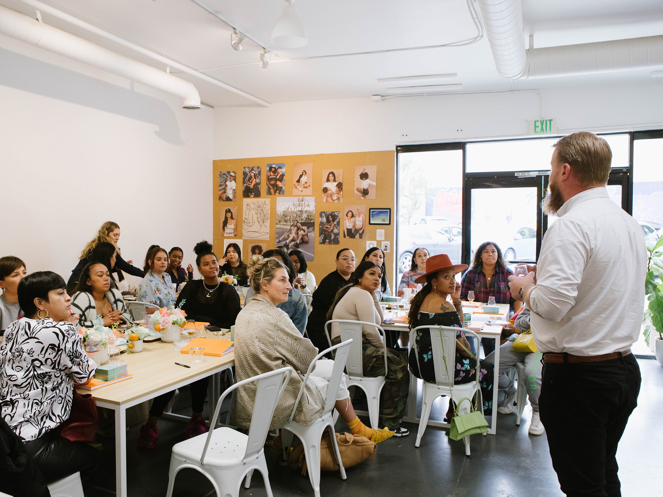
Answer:
<path fill-rule="evenodd" d="M 350 353 L 345 364 L 345 372 L 347 373 L 348 380 L 347 387 L 358 386 L 366 394 L 366 400 L 369 408 L 369 419 L 371 420 L 371 428 L 380 429 L 378 426 L 380 415 L 380 393 L 383 386 L 385 386 L 385 376 L 387 376 L 387 336 L 385 330 L 376 325 L 375 323 L 368 323 L 367 321 L 351 321 L 350 319 L 331 319 L 325 323 L 325 333 L 327 341 L 331 346 L 331 339 L 329 333 L 329 326 L 331 323 L 338 323 L 341 331 L 341 341 L 352 339 L 350 346 Z M 361 341 L 361 325 L 369 325 L 376 327 L 383 338 L 383 353 L 385 356 L 385 376 L 364 376 L 363 373 L 363 351 Z"/>

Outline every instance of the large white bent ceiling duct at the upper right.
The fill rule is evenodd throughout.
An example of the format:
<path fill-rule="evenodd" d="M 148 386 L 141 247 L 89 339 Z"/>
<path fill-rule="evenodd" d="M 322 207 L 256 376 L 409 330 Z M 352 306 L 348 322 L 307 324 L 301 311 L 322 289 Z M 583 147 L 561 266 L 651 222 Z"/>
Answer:
<path fill-rule="evenodd" d="M 663 36 L 525 48 L 521 0 L 479 0 L 500 76 L 553 78 L 663 66 Z"/>

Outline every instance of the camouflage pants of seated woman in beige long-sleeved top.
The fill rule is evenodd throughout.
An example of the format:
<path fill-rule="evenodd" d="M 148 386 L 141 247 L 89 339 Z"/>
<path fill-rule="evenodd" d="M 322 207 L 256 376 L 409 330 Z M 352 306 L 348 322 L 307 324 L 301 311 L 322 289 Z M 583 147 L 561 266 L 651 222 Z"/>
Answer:
<path fill-rule="evenodd" d="M 341 337 L 331 341 L 332 345 L 341 343 Z M 385 355 L 369 343 L 366 337 L 362 341 L 363 373 L 365 376 L 383 376 L 385 374 Z M 405 414 L 410 386 L 408 372 L 408 351 L 387 349 L 387 375 L 385 386 L 380 394 L 379 427 L 397 429 Z"/>

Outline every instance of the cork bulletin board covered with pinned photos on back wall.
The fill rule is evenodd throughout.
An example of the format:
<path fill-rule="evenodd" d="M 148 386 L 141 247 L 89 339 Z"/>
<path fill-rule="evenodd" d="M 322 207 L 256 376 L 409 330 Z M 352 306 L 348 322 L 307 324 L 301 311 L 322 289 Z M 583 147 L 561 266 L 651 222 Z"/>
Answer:
<path fill-rule="evenodd" d="M 281 165 L 280 170 L 278 165 Z M 308 270 L 316 276 L 316 282 L 320 282 L 335 269 L 339 249 L 347 247 L 359 259 L 370 242 L 382 247 L 387 241 L 391 246 L 391 250 L 385 252 L 387 278 L 394 292 L 394 168 L 393 150 L 214 160 L 214 250 L 221 258 L 226 239 L 241 239 L 242 259 L 247 260 L 251 248 L 257 250 L 255 245 L 267 250 L 288 243 L 292 250 L 296 248 L 297 238 L 299 249 L 306 253 Z M 231 171 L 235 172 L 234 176 L 229 174 Z M 362 172 L 367 172 L 369 177 Z M 251 183 L 247 184 L 247 180 Z M 369 190 L 366 195 L 362 186 Z M 226 209 L 233 213 L 230 221 L 231 225 L 234 221 L 235 226 L 233 237 L 224 237 L 221 231 Z M 369 225 L 369 209 L 391 209 L 391 224 Z M 351 211 L 351 215 L 347 211 Z M 363 223 L 360 222 L 363 231 L 355 238 L 344 236 L 355 234 L 351 229 L 346 231 L 346 222 L 351 223 L 352 215 L 357 217 L 357 214 L 360 219 L 363 216 Z M 324 219 L 322 225 L 321 219 Z M 296 223 L 299 224 L 295 226 Z M 377 239 L 377 229 L 385 231 L 383 240 Z"/>

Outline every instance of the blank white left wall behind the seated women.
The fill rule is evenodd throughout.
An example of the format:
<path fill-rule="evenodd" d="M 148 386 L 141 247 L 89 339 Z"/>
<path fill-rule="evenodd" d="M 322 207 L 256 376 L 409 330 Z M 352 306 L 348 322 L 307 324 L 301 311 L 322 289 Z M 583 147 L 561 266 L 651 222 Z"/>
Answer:
<path fill-rule="evenodd" d="M 65 280 L 104 221 L 125 259 L 212 241 L 213 112 L 0 36 L 0 256 Z"/>

